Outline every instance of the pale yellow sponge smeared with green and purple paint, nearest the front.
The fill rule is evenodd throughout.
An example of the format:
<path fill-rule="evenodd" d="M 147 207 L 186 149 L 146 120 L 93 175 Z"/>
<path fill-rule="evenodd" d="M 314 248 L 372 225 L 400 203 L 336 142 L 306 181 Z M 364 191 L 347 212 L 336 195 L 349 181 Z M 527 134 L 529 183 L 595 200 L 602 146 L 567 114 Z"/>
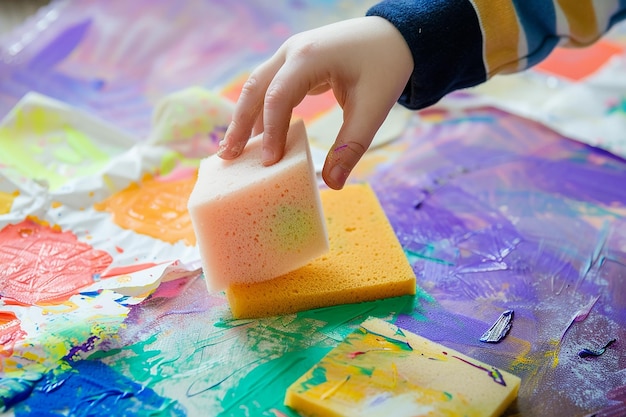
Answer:
<path fill-rule="evenodd" d="M 285 405 L 306 417 L 498 416 L 520 382 L 370 318 L 287 389 Z"/>

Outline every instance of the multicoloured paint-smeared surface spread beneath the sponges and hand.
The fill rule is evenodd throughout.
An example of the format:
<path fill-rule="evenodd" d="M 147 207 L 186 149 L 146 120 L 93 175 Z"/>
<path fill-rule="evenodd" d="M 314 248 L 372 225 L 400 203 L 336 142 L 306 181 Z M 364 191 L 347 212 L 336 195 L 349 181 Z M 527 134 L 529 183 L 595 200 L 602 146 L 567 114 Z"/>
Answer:
<path fill-rule="evenodd" d="M 60 299 L 37 297 L 34 285 L 0 294 L 0 407 L 295 416 L 282 393 L 373 316 L 519 376 L 505 415 L 626 410 L 626 162 L 472 110 L 485 102 L 467 94 L 416 115 L 354 178 L 376 191 L 417 274 L 415 297 L 236 321 L 222 294 L 206 292 L 191 237 L 168 226 L 184 223 L 181 184 L 204 155 L 146 143 L 154 105 L 190 85 L 227 90 L 290 33 L 366 6 L 57 2 L 3 38 L 0 233 L 32 216 L 91 270 L 69 282 L 67 263 L 46 264 L 61 271 Z M 624 117 L 617 87 L 588 102 L 600 105 L 602 132 Z M 31 90 L 57 101 L 22 98 Z M 223 134 L 212 126 L 208 140 Z M 132 184 L 137 194 L 124 194 Z M 152 186 L 172 187 L 167 202 Z M 152 200 L 135 219 L 149 219 L 147 231 L 116 223 L 122 205 L 94 208 L 144 191 Z M 505 337 L 481 342 L 506 310 L 515 320 Z M 581 358 L 585 349 L 602 353 Z"/>

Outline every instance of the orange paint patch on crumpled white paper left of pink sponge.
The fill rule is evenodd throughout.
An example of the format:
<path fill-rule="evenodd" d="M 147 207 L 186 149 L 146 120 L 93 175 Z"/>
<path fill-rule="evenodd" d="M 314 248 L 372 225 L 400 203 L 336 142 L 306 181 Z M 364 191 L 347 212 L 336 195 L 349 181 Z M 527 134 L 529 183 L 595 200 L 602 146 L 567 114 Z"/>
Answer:
<path fill-rule="evenodd" d="M 146 175 L 141 184 L 133 183 L 94 205 L 108 211 L 113 221 L 124 229 L 169 243 L 196 244 L 187 200 L 196 182 L 196 170 L 186 177 L 152 178 Z"/>

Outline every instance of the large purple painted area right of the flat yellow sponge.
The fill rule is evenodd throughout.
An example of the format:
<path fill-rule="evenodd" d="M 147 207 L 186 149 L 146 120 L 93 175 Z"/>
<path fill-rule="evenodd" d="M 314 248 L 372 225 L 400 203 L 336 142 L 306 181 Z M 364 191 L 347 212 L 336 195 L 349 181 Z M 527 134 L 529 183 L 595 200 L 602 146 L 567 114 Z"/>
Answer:
<path fill-rule="evenodd" d="M 590 326 L 596 336 L 626 333 L 626 162 L 515 116 L 481 118 L 489 113 L 416 127 L 403 139 L 406 152 L 371 180 L 419 286 L 435 300 L 396 324 L 545 381 L 534 393 L 522 386 L 521 415 L 549 414 L 555 401 L 566 414 L 600 408 L 624 360 L 589 370 L 563 355 Z M 572 312 L 582 319 L 581 306 L 598 296 L 555 353 L 570 372 L 553 368 L 549 352 L 564 323 Z M 516 337 L 477 346 L 489 312 L 502 309 L 515 310 Z M 529 365 L 514 365 L 519 358 Z"/>

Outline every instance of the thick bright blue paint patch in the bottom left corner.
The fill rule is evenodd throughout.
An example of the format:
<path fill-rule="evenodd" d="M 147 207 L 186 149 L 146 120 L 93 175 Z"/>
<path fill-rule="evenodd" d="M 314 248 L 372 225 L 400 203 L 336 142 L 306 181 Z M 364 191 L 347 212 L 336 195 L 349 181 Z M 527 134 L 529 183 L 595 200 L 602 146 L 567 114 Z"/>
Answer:
<path fill-rule="evenodd" d="M 90 360 L 48 372 L 13 411 L 16 417 L 186 415 L 176 401 Z"/>

